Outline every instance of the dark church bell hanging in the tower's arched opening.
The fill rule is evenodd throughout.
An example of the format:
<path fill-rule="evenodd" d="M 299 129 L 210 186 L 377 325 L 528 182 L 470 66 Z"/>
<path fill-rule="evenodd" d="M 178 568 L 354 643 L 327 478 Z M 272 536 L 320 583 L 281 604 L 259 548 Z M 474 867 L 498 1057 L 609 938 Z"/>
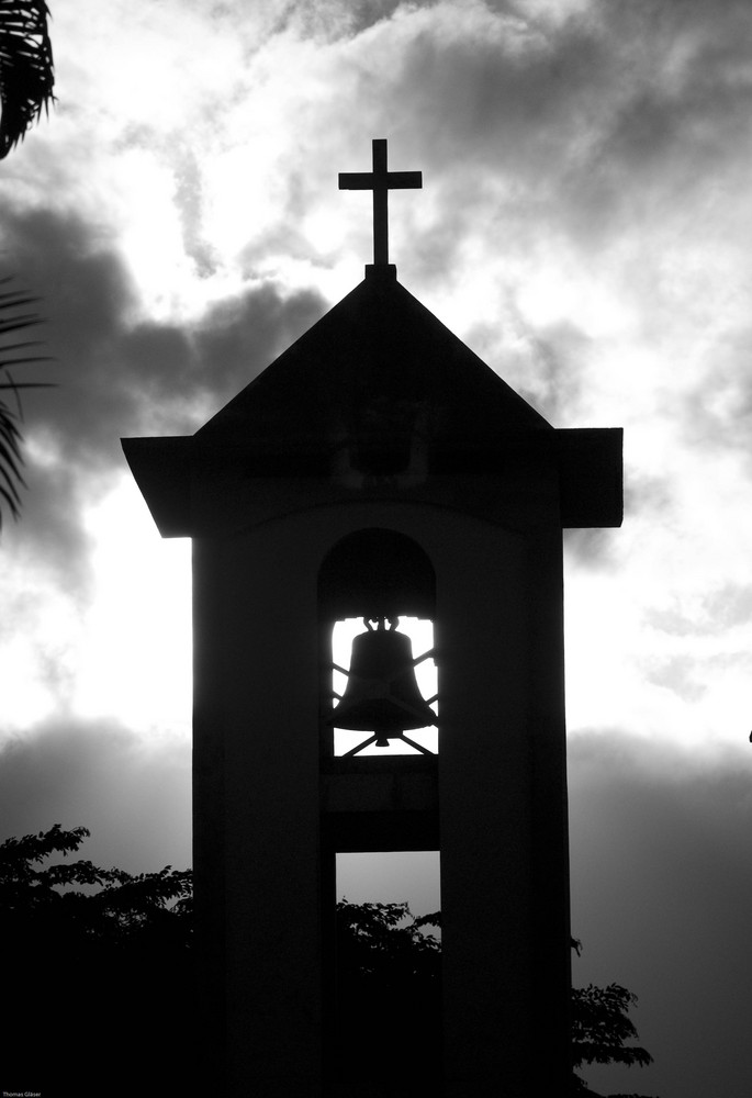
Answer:
<path fill-rule="evenodd" d="M 388 747 L 390 737 L 436 725 L 437 719 L 418 688 L 409 637 L 385 628 L 393 618 L 375 620 L 374 629 L 363 618 L 367 631 L 352 640 L 347 685 L 330 724 L 371 731 L 377 747 Z"/>

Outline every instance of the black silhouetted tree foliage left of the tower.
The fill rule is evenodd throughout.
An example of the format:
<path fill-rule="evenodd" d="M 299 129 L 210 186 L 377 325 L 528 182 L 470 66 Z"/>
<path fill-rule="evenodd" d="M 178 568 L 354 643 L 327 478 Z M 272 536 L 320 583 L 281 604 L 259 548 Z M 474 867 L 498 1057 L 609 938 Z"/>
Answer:
<path fill-rule="evenodd" d="M 190 1094 L 191 873 L 70 859 L 88 836 L 0 844 L 3 1087 Z"/>

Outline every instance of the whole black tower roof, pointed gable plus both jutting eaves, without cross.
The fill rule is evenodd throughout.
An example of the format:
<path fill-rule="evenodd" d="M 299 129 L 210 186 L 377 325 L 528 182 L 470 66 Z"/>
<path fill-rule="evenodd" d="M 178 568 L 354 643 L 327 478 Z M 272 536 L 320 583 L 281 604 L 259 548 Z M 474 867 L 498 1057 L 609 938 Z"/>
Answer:
<path fill-rule="evenodd" d="M 555 430 L 396 280 L 364 280 L 195 435 L 124 439 L 165 535 L 190 533 L 197 472 L 327 477 L 341 459 L 367 473 L 487 473 L 510 451 L 552 459 L 562 524 L 621 520 L 621 432 Z"/>

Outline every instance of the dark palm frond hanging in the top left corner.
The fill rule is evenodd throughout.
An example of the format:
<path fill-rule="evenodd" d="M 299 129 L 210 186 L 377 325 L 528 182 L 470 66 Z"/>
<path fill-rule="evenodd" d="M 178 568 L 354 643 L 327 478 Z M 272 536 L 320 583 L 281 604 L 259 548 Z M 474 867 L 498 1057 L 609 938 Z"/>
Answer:
<path fill-rule="evenodd" d="M 54 101 L 44 0 L 0 0 L 0 160 Z"/>

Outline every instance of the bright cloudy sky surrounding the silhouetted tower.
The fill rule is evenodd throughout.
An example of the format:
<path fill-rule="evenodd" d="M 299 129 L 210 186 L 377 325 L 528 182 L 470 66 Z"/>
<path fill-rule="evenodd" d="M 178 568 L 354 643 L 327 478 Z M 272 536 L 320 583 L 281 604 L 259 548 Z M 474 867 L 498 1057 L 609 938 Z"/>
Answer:
<path fill-rule="evenodd" d="M 554 426 L 625 427 L 624 527 L 568 535 L 574 971 L 638 994 L 655 1063 L 592 1079 L 749 1098 L 748 0 L 53 15 L 57 108 L 0 164 L 0 273 L 58 382 L 0 547 L 0 837 L 189 863 L 190 546 L 120 437 L 192 432 L 360 281 L 337 171 L 388 137 L 424 172 L 390 203 L 403 284 Z"/>

